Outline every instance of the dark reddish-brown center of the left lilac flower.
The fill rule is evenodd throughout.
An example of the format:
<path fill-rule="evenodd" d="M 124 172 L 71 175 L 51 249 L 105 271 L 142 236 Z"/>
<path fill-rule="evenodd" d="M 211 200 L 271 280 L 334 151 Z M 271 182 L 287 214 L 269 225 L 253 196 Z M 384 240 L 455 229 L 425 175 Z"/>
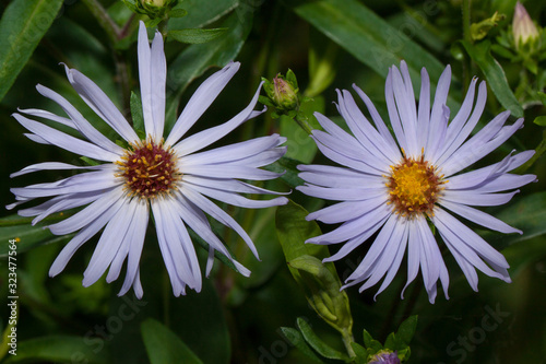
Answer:
<path fill-rule="evenodd" d="M 170 148 L 164 148 L 163 140 L 142 140 L 130 144 L 121 161 L 117 176 L 122 177 L 129 196 L 153 199 L 177 189 L 176 181 L 181 174 L 176 166 L 176 157 Z"/>

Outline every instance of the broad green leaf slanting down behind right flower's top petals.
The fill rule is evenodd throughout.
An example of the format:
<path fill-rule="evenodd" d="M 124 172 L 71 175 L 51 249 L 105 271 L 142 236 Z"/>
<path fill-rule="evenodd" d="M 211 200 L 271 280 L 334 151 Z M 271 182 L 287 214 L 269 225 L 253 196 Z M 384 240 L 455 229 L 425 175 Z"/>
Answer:
<path fill-rule="evenodd" d="M 444 69 L 432 55 L 357 0 L 282 2 L 383 78 L 401 59 L 407 62 L 414 84 L 420 83 L 423 67 L 431 80 L 438 80 Z"/>

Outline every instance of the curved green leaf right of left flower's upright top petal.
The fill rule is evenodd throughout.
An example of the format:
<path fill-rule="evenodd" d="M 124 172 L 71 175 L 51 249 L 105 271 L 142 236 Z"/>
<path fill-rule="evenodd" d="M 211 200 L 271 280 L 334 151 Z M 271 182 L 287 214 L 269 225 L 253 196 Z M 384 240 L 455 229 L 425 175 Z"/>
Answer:
<path fill-rule="evenodd" d="M 167 93 L 173 99 L 166 110 L 166 130 L 170 130 L 176 121 L 176 111 L 181 94 L 191 81 L 202 75 L 210 67 L 224 67 L 239 54 L 252 27 L 252 14 L 240 19 L 235 9 L 222 27 L 228 28 L 224 36 L 205 44 L 187 47 L 170 64 L 167 74 Z M 187 17 L 183 17 L 187 19 Z"/>

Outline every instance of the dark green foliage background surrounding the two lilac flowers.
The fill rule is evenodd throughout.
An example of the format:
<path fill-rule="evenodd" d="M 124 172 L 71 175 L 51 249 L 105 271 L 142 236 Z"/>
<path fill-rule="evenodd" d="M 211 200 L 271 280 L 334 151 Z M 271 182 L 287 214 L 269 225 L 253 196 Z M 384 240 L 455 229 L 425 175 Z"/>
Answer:
<path fill-rule="evenodd" d="M 539 0 L 523 3 L 535 23 L 546 26 L 546 3 Z M 477 75 L 488 82 L 483 122 L 507 108 L 512 117 L 525 117 L 525 127 L 485 158 L 484 164 L 501 160 L 513 149 L 542 152 L 546 125 L 543 121 L 546 96 L 542 94 L 546 86 L 546 32 L 535 49 L 518 51 L 510 33 L 514 5 L 512 0 L 472 3 L 470 0 L 185 0 L 179 7 L 187 15 L 170 19 L 163 28 L 167 34 L 174 32 L 174 40 L 165 46 L 167 129 L 200 82 L 230 60 L 239 60 L 241 69 L 195 129 L 227 120 L 247 105 L 261 77 L 285 74 L 288 68 L 297 75 L 300 91 L 312 97 L 302 110 L 311 125 L 310 115 L 314 110 L 342 121 L 332 104 L 335 89 L 348 90 L 353 83 L 387 115 L 384 78 L 390 66 L 404 59 L 414 89 L 420 83 L 422 67 L 427 68 L 436 82 L 446 64 L 451 64 L 453 78 L 448 104 L 452 115 L 472 77 Z M 471 24 L 479 26 L 496 11 L 505 19 L 492 27 L 482 23 L 486 30 L 480 30 L 486 35 L 478 38 Z M 23 136 L 25 130 L 10 115 L 17 107 L 61 113 L 36 92 L 35 85 L 39 83 L 61 93 L 99 128 L 97 116 L 68 83 L 59 64 L 63 62 L 94 80 L 130 118 L 131 91 L 138 90 L 135 30 L 139 16 L 145 16 L 133 15 L 123 2 L 112 0 L 12 0 L 0 2 L 0 204 L 5 206 L 13 202 L 10 187 L 60 177 L 43 172 L 12 180 L 10 173 L 39 162 L 82 163 L 76 155 L 27 140 Z M 186 31 L 195 28 L 210 31 Z M 273 119 L 270 110 L 222 143 L 271 132 L 288 138 L 287 157 L 292 160 L 272 166 L 287 173 L 269 187 L 292 189 L 290 199 L 308 211 L 317 210 L 322 201 L 294 189 L 301 183 L 295 165 L 327 161 L 316 155 L 313 142 L 294 120 Z M 503 236 L 479 231 L 507 257 L 513 282 L 507 284 L 480 274 L 479 292 L 475 293 L 454 259 L 446 255 L 451 298 L 446 301 L 440 295 L 430 305 L 417 278 L 401 301 L 406 279 L 403 266 L 377 301 L 373 289 L 363 294 L 356 287 L 346 291 L 358 343 L 367 340 L 363 339 L 364 330 L 364 338 L 371 334 L 384 342 L 404 319 L 418 315 L 410 363 L 546 363 L 546 162 L 537 157 L 525 167 L 539 181 L 523 187 L 509 204 L 487 210 L 524 234 Z M 301 281 L 294 280 L 286 263 L 283 244 L 293 244 L 294 236 L 306 236 L 309 228 L 319 227 L 298 225 L 295 219 L 300 212 L 294 211 L 275 214 L 275 209 L 230 209 L 253 238 L 261 261 L 249 254 L 235 234 L 216 226 L 252 275 L 246 279 L 217 262 L 200 294 L 190 292 L 178 298 L 171 294 L 153 228 L 149 228 L 141 261 L 144 297 L 138 302 L 132 293 L 126 297 L 116 295 L 120 282 L 109 285 L 99 280 L 91 287 L 81 286 L 83 267 L 96 239 L 85 244 L 61 274 L 48 278 L 49 266 L 70 236 L 52 236 L 41 228 L 46 224 L 29 227 L 28 221 L 3 210 L 2 332 L 10 328 L 8 242 L 14 237 L 21 242 L 16 261 L 17 355 L 8 354 L 8 347 L 2 343 L 0 361 L 3 357 L 5 363 L 336 362 L 319 360 L 317 348 L 306 354 L 305 348 L 300 350 L 302 345 L 286 339 L 287 332 L 299 332 L 295 328 L 310 327 L 332 349 L 344 351 L 340 334 L 311 308 L 306 290 L 298 285 Z M 295 228 L 294 235 L 283 233 L 287 225 Z M 332 226 L 320 228 L 325 232 Z M 335 249 L 332 247 L 331 253 Z M 337 272 L 343 281 L 366 250 L 363 245 L 329 270 Z M 200 258 L 206 259 L 205 250 L 200 254 Z M 501 314 L 495 316 L 491 312 Z M 305 329 L 301 331 L 305 333 Z"/>

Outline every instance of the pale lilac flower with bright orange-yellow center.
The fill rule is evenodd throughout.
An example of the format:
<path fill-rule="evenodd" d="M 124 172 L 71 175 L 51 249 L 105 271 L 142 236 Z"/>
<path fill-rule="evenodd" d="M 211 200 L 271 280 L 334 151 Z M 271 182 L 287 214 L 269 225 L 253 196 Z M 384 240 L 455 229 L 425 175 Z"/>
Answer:
<path fill-rule="evenodd" d="M 446 106 L 450 80 L 448 66 L 430 107 L 430 81 L 423 69 L 417 107 L 406 63 L 401 62 L 400 71 L 395 67 L 389 70 L 385 98 L 394 138 L 370 98 L 356 85 L 375 127 L 345 90 L 337 91 L 337 109 L 354 136 L 323 115 L 316 115 L 324 131 L 313 130 L 312 138 L 327 157 L 342 166 L 300 165 L 299 176 L 306 185 L 298 189 L 317 198 L 342 201 L 307 216 L 342 224 L 308 243 L 345 242 L 336 254 L 324 259 L 333 261 L 379 232 L 344 287 L 364 283 L 359 289 L 363 292 L 384 277 L 379 294 L 391 283 L 407 249 L 406 286 L 420 266 L 429 301 L 436 300 L 438 279 L 448 298 L 448 269 L 430 224 L 436 226 L 474 291 L 478 283 L 476 268 L 510 282 L 505 257 L 453 214 L 501 233 L 521 234 L 473 207 L 506 203 L 518 192 L 513 189 L 534 181 L 534 175 L 508 173 L 534 152 L 512 152 L 501 162 L 463 172 L 510 138 L 522 127 L 523 119 L 505 126 L 510 113 L 503 111 L 471 137 L 486 103 L 485 82 L 479 84 L 475 99 L 477 80 L 472 81 L 461 108 L 450 121 Z M 498 193 L 506 190 L 512 191 Z"/>

